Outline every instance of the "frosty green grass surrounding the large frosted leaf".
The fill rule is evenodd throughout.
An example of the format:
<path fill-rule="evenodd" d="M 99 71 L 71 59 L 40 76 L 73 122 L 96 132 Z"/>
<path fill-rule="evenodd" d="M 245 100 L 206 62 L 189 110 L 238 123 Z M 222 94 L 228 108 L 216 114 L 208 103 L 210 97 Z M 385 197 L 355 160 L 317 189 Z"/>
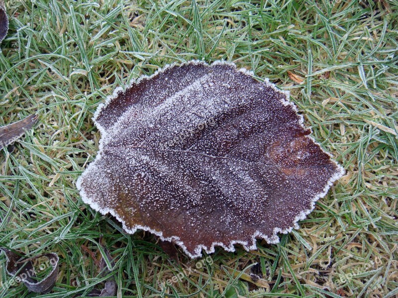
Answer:
<path fill-rule="evenodd" d="M 116 260 L 118 297 L 397 297 L 398 2 L 387 0 L 9 0 L 0 51 L 0 125 L 37 112 L 33 132 L 0 152 L 0 245 L 60 256 L 51 294 L 104 278 L 89 252 Z M 300 229 L 258 250 L 217 249 L 198 265 L 168 260 L 153 235 L 82 203 L 78 176 L 100 133 L 105 97 L 173 62 L 224 59 L 291 91 L 314 138 L 347 174 Z M 210 259 L 209 259 L 210 260 Z M 264 275 L 250 282 L 258 262 Z M 1 282 L 5 258 L 1 257 Z M 200 267 L 200 268 L 198 268 Z M 167 286 L 174 276 L 181 280 Z M 264 294 L 268 292 L 267 294 Z"/>

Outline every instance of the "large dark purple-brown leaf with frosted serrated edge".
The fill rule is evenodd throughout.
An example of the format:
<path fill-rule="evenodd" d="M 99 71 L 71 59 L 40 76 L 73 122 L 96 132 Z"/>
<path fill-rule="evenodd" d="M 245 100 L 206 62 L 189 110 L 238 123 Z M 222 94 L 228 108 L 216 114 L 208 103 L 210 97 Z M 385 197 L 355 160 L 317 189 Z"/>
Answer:
<path fill-rule="evenodd" d="M 289 93 L 231 63 L 168 66 L 116 89 L 79 178 L 85 203 L 190 257 L 256 249 L 298 227 L 344 170 L 309 136 Z"/>

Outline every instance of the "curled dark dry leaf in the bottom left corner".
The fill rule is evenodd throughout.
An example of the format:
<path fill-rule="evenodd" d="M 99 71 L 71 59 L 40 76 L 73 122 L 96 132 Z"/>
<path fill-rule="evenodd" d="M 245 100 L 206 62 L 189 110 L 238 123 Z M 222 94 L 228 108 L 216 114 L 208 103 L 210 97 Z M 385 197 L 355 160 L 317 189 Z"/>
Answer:
<path fill-rule="evenodd" d="M 59 257 L 55 253 L 44 253 L 33 258 L 24 257 L 24 253 L 19 252 L 18 254 L 7 249 L 0 247 L 5 253 L 7 258 L 7 273 L 14 276 L 16 279 L 22 281 L 29 291 L 35 293 L 49 293 L 55 285 L 55 281 L 58 275 L 58 262 Z M 37 280 L 36 269 L 33 267 L 32 261 L 41 257 L 48 259 L 48 266 L 44 265 L 43 268 L 52 267 L 50 273 L 43 278 L 41 281 Z M 40 266 L 41 267 L 41 266 Z"/>

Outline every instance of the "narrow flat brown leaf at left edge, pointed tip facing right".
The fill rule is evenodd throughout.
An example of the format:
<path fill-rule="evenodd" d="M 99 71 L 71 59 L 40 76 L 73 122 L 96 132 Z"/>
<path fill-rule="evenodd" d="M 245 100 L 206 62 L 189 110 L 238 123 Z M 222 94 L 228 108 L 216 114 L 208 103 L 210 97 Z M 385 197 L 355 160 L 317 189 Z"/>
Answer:
<path fill-rule="evenodd" d="M 0 127 L 0 149 L 22 137 L 26 130 L 33 127 L 37 121 L 37 115 L 32 114 L 25 119 Z"/>

